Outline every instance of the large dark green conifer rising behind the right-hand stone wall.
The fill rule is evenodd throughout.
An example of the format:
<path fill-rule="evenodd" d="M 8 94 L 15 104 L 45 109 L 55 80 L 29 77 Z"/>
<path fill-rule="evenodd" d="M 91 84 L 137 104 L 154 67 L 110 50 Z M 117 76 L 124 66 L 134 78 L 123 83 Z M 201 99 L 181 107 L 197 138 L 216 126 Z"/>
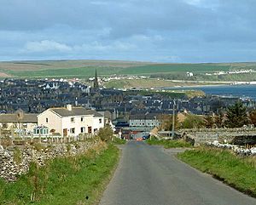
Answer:
<path fill-rule="evenodd" d="M 241 104 L 241 101 L 228 107 L 226 118 L 225 125 L 228 128 L 241 128 L 249 122 L 246 107 Z"/>

